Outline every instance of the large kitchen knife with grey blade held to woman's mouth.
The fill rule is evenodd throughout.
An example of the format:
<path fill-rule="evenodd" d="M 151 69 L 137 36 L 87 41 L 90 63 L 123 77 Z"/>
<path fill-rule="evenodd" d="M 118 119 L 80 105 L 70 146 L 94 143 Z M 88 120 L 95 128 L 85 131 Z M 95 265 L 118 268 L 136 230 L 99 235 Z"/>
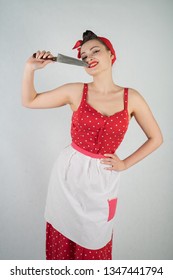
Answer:
<path fill-rule="evenodd" d="M 36 57 L 36 53 L 33 54 L 33 57 Z M 73 58 L 71 56 L 63 55 L 61 53 L 58 53 L 58 55 L 54 56 L 54 57 L 50 57 L 50 58 L 46 57 L 46 58 L 41 58 L 41 59 L 52 60 L 52 61 L 60 62 L 60 63 L 66 63 L 66 64 L 88 67 L 88 63 L 86 63 L 82 60 Z"/>

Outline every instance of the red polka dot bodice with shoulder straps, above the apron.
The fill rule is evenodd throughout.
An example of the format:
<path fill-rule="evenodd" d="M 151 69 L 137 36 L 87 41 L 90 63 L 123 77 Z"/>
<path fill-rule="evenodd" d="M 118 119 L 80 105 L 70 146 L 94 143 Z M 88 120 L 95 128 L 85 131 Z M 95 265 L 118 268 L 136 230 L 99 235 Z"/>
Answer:
<path fill-rule="evenodd" d="M 94 154 L 114 154 L 127 131 L 128 89 L 124 90 L 124 109 L 110 117 L 104 116 L 87 103 L 88 85 L 84 84 L 83 97 L 71 124 L 72 142 Z"/>

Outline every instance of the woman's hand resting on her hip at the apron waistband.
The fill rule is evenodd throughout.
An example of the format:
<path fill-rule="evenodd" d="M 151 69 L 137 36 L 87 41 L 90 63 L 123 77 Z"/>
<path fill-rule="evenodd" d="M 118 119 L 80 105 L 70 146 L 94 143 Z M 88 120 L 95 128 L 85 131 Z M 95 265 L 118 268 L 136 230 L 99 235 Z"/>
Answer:
<path fill-rule="evenodd" d="M 106 158 L 101 159 L 102 164 L 110 165 L 110 167 L 105 167 L 106 170 L 123 171 L 126 169 L 125 162 L 115 154 L 105 154 Z"/>

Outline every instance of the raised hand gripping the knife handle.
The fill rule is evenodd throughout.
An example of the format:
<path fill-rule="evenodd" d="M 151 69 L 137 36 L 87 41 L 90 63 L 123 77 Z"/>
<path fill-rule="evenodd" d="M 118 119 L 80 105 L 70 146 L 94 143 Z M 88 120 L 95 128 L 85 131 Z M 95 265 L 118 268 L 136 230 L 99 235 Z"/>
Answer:
<path fill-rule="evenodd" d="M 27 62 L 26 66 L 29 67 L 32 70 L 37 70 L 44 68 L 47 64 L 53 63 L 52 60 L 44 60 L 43 58 L 51 58 L 53 55 L 48 51 L 37 51 L 36 52 L 36 57 L 34 58 L 31 56 Z"/>

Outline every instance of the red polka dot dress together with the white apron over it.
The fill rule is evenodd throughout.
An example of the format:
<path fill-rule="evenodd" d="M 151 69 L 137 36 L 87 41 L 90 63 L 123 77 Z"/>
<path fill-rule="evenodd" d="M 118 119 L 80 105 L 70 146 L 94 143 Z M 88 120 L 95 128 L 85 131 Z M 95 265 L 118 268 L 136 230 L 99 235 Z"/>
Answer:
<path fill-rule="evenodd" d="M 87 103 L 73 113 L 72 144 L 52 169 L 45 219 L 47 259 L 112 259 L 112 235 L 120 172 L 105 170 L 105 153 L 115 153 L 128 128 L 128 89 L 124 109 L 107 117 Z"/>

